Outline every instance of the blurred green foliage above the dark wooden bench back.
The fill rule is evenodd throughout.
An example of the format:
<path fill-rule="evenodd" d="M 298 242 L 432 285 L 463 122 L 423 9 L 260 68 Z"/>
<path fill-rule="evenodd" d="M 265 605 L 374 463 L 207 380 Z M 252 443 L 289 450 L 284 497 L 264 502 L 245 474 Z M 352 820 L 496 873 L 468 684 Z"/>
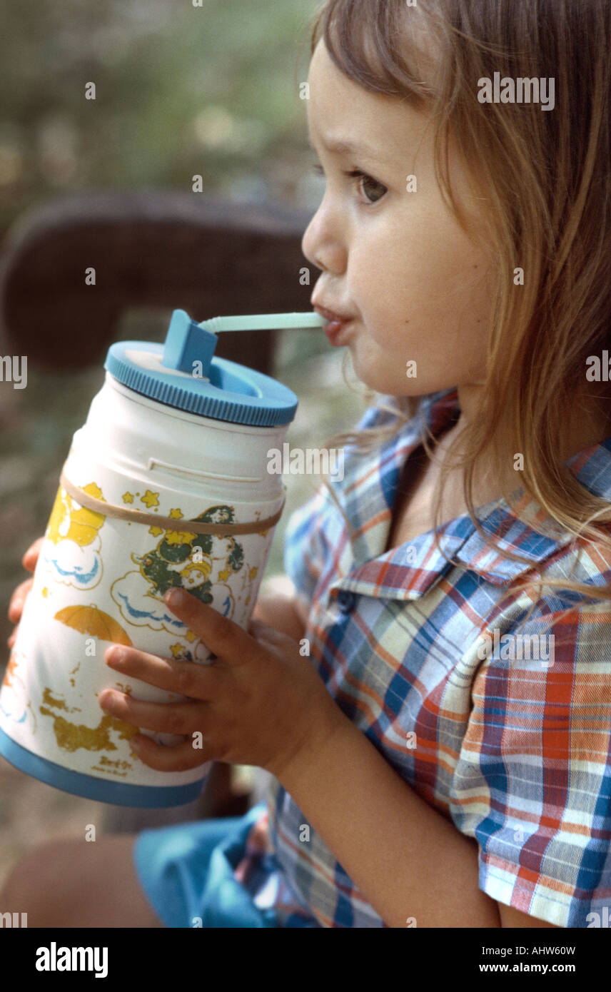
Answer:
<path fill-rule="evenodd" d="M 313 0 L 0 5 L 0 229 L 58 191 L 170 186 L 315 205 Z M 95 100 L 85 85 L 95 83 Z"/>

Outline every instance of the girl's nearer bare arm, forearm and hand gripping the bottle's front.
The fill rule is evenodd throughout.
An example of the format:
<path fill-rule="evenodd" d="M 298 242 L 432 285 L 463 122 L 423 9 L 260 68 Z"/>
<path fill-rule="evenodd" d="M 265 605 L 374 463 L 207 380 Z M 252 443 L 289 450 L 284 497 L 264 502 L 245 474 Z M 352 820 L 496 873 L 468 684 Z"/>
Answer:
<path fill-rule="evenodd" d="M 476 841 L 403 781 L 294 640 L 264 621 L 247 632 L 183 590 L 170 590 L 165 602 L 217 662 L 177 662 L 118 646 L 106 652 L 114 672 L 188 697 L 157 703 L 115 689 L 100 693 L 102 709 L 119 719 L 185 735 L 172 748 L 132 737 L 145 764 L 185 771 L 216 760 L 271 772 L 390 927 L 502 926 L 498 904 L 478 887 Z M 193 728 L 203 749 L 193 749 Z"/>

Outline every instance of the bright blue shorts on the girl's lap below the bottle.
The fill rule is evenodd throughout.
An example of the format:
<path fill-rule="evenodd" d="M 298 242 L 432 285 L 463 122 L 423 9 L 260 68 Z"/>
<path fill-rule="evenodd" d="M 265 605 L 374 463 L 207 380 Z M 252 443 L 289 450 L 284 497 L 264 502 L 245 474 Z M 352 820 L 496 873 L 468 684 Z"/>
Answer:
<path fill-rule="evenodd" d="M 166 927 L 278 927 L 233 877 L 246 836 L 266 808 L 244 816 L 197 820 L 143 830 L 134 844 L 138 881 Z M 199 922 L 201 921 L 201 922 Z"/>

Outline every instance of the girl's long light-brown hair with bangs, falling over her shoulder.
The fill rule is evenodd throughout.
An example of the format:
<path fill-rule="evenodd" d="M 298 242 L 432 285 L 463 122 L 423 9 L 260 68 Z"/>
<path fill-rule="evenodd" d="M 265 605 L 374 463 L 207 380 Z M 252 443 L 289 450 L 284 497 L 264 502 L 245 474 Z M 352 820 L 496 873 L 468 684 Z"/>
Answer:
<path fill-rule="evenodd" d="M 603 549 L 611 552 L 611 503 L 588 492 L 557 461 L 567 411 L 578 416 L 576 404 L 586 388 L 586 358 L 611 350 L 611 5 L 608 0 L 418 0 L 418 10 L 425 21 L 417 25 L 406 0 L 327 0 L 308 31 L 310 53 L 323 38 L 334 64 L 364 89 L 430 112 L 435 178 L 463 229 L 468 225 L 448 179 L 450 138 L 473 188 L 488 200 L 485 233 L 499 261 L 485 387 L 477 415 L 461 434 L 464 457 L 441 470 L 436 547 L 444 554 L 437 540 L 439 508 L 447 473 L 458 465 L 465 470 L 469 517 L 491 545 L 474 513 L 475 461 L 489 451 L 495 477 L 503 479 L 508 454 L 515 451 L 524 455 L 525 492 L 569 532 L 571 545 L 596 543 L 598 558 L 611 567 L 611 558 L 603 556 Z M 416 67 L 419 47 L 424 51 L 423 25 L 438 56 L 432 84 Z M 553 77 L 554 108 L 480 103 L 477 82 L 492 79 L 494 72 L 501 78 Z M 519 288 L 513 283 L 517 267 L 527 274 Z M 365 395 L 371 399 L 371 394 Z M 600 398 L 600 409 L 609 416 L 608 394 L 589 396 L 587 402 Z M 392 408 L 375 404 L 393 414 L 382 428 L 336 434 L 326 444 L 370 450 L 398 434 L 424 399 L 396 397 Z M 424 434 L 431 457 L 428 438 L 434 438 L 428 428 Z M 501 446 L 499 437 L 511 441 Z M 328 479 L 322 481 L 337 502 Z M 514 510 L 515 492 L 503 492 Z M 543 533 L 541 526 L 534 529 Z M 496 542 L 494 547 L 543 576 L 532 559 Z M 611 600 L 611 584 L 593 588 L 530 575 L 511 583 L 509 595 L 529 590 L 534 609 L 546 585 L 579 592 L 588 602 Z M 573 605 L 564 614 L 575 609 L 574 596 L 569 601 Z"/>

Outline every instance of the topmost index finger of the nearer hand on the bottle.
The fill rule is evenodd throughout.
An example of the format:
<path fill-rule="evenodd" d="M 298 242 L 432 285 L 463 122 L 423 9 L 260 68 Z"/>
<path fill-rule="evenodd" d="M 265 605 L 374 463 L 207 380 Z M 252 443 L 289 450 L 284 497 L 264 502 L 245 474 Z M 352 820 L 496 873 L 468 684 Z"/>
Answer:
<path fill-rule="evenodd" d="M 252 657 L 257 648 L 254 638 L 212 606 L 177 586 L 169 589 L 164 601 L 189 630 L 201 637 L 206 648 L 217 658 L 241 664 Z"/>

